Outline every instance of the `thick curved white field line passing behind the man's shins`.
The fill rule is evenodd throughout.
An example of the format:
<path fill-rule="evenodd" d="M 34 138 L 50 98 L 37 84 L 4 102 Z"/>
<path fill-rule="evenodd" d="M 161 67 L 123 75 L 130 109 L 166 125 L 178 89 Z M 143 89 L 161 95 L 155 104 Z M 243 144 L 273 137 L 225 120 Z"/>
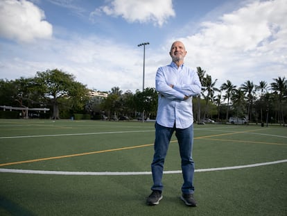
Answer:
<path fill-rule="evenodd" d="M 222 171 L 228 169 L 243 169 L 249 167 L 260 167 L 266 165 L 273 165 L 277 163 L 286 163 L 286 160 L 276 160 L 266 163 L 254 163 L 251 165 L 241 165 L 234 167 L 218 167 L 209 169 L 195 169 L 195 172 L 211 172 Z M 50 174 L 50 175 L 68 175 L 68 176 L 132 176 L 132 175 L 150 175 L 151 172 L 69 172 L 69 171 L 47 171 L 47 170 L 29 170 L 29 169 L 0 169 L 3 173 L 17 173 L 17 174 Z M 165 171 L 164 174 L 180 174 L 181 170 Z"/>

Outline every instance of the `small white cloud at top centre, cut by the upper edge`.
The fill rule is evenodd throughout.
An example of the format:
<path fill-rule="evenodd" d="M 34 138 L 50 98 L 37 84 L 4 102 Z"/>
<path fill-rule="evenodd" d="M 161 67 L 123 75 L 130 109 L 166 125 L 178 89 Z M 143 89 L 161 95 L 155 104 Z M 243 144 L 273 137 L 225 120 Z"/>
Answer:
<path fill-rule="evenodd" d="M 96 8 L 92 14 L 99 15 L 101 12 L 121 16 L 128 22 L 153 22 L 158 26 L 175 16 L 172 0 L 113 0 L 110 5 Z"/>

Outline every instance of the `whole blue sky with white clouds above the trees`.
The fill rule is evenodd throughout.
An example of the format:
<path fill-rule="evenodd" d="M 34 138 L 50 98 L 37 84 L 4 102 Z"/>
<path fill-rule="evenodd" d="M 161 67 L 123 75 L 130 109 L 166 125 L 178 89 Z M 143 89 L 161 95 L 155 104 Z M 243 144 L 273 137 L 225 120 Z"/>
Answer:
<path fill-rule="evenodd" d="M 286 0 L 1 0 L 0 78 L 61 69 L 88 88 L 155 87 L 175 40 L 217 87 L 287 76 Z"/>

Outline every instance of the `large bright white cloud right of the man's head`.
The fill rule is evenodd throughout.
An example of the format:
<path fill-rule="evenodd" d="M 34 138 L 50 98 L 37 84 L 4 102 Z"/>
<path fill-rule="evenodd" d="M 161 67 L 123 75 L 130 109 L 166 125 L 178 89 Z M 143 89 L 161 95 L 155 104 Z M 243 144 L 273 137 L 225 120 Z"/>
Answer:
<path fill-rule="evenodd" d="M 240 85 L 287 74 L 287 1 L 254 1 L 218 21 L 202 23 L 199 33 L 182 38 L 186 62 L 202 67 L 221 85 Z M 270 71 L 275 67 L 279 71 Z"/>

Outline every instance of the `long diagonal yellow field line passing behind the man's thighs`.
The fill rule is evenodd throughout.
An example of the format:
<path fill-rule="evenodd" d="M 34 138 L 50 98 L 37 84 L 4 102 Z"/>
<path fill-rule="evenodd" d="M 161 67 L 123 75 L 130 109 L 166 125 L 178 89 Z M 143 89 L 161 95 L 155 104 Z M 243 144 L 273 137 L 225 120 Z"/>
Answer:
<path fill-rule="evenodd" d="M 257 130 L 252 130 L 252 131 L 259 131 L 261 129 Z M 246 132 L 251 132 L 251 131 L 240 131 L 240 132 L 232 132 L 232 133 L 222 133 L 222 134 L 217 134 L 217 135 L 207 135 L 207 136 L 202 136 L 194 139 L 205 139 L 205 138 L 211 138 L 215 136 L 221 136 L 221 135 L 231 135 L 235 133 L 246 133 Z M 235 140 L 232 140 L 235 141 Z M 177 140 L 173 140 L 171 142 L 177 142 Z M 23 161 L 16 161 L 16 162 L 11 162 L 11 163 L 2 163 L 0 164 L 0 167 L 8 166 L 8 165 L 19 165 L 23 163 L 33 163 L 33 162 L 39 162 L 43 160 L 53 160 L 53 159 L 61 159 L 61 158 L 71 158 L 71 157 L 76 157 L 76 156 L 87 156 L 89 154 L 94 154 L 94 153 L 105 153 L 105 152 L 110 152 L 110 151 L 121 151 L 121 150 L 127 150 L 127 149 L 137 149 L 137 148 L 142 148 L 142 147 L 150 147 L 153 146 L 153 144 L 142 144 L 138 146 L 133 146 L 133 147 L 123 147 L 119 149 L 107 149 L 107 150 L 101 150 L 101 151 L 91 151 L 91 152 L 85 152 L 85 153 L 75 153 L 75 154 L 70 154 L 66 156 L 55 156 L 55 157 L 49 157 L 49 158 L 38 158 L 38 159 L 33 159 L 33 160 L 23 160 Z"/>

